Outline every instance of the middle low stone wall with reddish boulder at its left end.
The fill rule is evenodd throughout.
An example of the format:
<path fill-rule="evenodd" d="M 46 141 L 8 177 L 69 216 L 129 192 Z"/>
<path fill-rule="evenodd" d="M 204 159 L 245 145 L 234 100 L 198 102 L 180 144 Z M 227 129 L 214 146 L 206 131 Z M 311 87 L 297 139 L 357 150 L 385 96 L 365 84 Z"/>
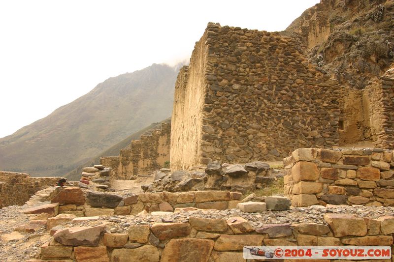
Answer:
<path fill-rule="evenodd" d="M 77 217 L 135 215 L 143 210 L 149 213 L 173 212 L 177 207 L 225 210 L 235 208 L 242 197 L 240 193 L 229 191 L 140 193 L 129 196 L 95 191 L 84 192 L 77 187 L 59 188 L 57 191 L 53 194 L 51 203 L 59 203 L 58 213 L 73 214 Z"/>

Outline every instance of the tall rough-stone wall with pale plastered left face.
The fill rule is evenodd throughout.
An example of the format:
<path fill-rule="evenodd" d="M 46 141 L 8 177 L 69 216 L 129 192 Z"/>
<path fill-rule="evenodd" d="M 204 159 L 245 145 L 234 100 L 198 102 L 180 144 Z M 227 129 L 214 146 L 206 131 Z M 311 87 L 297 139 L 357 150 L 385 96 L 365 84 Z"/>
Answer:
<path fill-rule="evenodd" d="M 338 97 L 298 40 L 209 23 L 175 87 L 171 169 L 338 146 Z"/>

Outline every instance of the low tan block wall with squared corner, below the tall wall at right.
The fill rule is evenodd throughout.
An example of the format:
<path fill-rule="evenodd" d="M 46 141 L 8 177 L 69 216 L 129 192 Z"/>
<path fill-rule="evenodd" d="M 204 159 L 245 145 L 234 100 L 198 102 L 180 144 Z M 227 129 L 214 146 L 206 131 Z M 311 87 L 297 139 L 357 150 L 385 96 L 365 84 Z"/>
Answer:
<path fill-rule="evenodd" d="M 296 149 L 284 159 L 293 206 L 394 206 L 394 157 L 383 149 Z"/>

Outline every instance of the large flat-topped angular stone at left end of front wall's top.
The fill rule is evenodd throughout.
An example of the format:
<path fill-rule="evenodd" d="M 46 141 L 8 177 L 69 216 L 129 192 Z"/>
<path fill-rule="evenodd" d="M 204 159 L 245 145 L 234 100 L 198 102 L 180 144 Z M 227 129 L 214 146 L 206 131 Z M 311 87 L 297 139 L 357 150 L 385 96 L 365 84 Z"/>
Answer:
<path fill-rule="evenodd" d="M 99 243 L 100 233 L 105 230 L 105 225 L 96 227 L 76 227 L 57 231 L 53 237 L 65 246 L 91 246 Z"/>

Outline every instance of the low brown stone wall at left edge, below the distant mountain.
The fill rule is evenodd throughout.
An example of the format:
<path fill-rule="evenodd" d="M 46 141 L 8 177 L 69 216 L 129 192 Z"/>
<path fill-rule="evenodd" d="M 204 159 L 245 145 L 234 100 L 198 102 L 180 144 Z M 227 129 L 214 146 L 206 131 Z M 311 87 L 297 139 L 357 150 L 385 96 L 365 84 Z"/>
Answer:
<path fill-rule="evenodd" d="M 55 185 L 60 178 L 0 171 L 0 208 L 25 204 L 37 191 Z"/>

